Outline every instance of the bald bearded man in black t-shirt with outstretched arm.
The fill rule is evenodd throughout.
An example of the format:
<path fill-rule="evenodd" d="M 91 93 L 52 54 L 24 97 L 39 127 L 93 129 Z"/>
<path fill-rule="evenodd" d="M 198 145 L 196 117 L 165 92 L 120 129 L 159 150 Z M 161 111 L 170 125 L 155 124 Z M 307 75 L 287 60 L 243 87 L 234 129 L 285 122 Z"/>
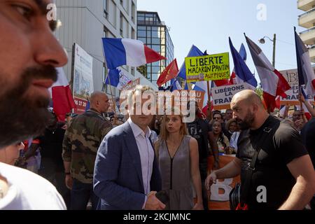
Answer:
<path fill-rule="evenodd" d="M 231 109 L 242 130 L 237 155 L 207 177 L 207 188 L 216 179 L 241 174 L 241 199 L 248 209 L 304 209 L 315 193 L 315 173 L 300 134 L 269 116 L 252 90 L 235 94 Z"/>

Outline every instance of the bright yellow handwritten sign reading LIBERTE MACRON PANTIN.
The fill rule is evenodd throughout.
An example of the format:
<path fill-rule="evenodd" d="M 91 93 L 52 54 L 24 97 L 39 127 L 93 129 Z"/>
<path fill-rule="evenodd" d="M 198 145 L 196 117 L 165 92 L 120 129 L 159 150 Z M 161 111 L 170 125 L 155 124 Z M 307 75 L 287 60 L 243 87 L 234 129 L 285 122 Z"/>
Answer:
<path fill-rule="evenodd" d="M 222 80 L 230 78 L 229 53 L 186 57 L 187 82 Z"/>

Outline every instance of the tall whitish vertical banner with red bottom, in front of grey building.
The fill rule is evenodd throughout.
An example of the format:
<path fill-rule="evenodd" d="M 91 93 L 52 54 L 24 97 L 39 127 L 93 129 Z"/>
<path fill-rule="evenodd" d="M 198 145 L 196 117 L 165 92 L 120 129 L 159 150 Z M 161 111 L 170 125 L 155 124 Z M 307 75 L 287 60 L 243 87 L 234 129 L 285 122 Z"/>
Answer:
<path fill-rule="evenodd" d="M 77 43 L 73 44 L 73 99 L 76 104 L 74 113 L 84 113 L 87 100 L 93 90 L 93 57 L 91 57 Z"/>

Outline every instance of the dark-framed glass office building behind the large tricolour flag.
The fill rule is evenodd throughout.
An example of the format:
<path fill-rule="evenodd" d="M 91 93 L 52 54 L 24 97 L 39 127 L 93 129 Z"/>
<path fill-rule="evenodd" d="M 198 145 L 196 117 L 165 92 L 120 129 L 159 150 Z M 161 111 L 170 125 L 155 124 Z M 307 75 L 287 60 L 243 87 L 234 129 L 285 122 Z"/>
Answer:
<path fill-rule="evenodd" d="M 174 59 L 174 45 L 169 36 L 169 29 L 165 22 L 160 20 L 156 12 L 137 12 L 137 38 L 148 46 L 166 57 L 166 60 L 146 64 L 138 70 L 152 83 L 156 83 L 160 73 Z"/>

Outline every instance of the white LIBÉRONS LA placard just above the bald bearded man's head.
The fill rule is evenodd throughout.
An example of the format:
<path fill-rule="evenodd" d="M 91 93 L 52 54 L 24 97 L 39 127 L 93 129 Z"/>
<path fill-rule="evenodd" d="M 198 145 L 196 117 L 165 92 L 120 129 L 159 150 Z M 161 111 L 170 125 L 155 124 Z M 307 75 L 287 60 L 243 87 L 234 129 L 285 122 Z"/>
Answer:
<path fill-rule="evenodd" d="M 246 83 L 225 85 L 211 89 L 214 110 L 230 109 L 232 97 L 241 90 L 247 90 Z"/>

